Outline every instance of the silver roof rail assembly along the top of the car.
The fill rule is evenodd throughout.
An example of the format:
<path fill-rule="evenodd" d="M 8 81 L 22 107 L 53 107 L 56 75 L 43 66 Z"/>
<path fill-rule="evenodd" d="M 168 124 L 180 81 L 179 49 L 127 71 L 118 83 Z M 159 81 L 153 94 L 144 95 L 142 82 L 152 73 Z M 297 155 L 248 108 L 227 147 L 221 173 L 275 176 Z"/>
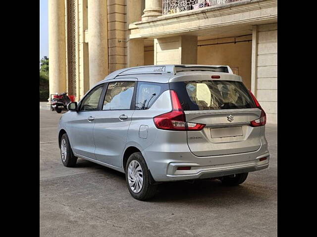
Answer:
<path fill-rule="evenodd" d="M 229 66 L 220 65 L 151 65 L 133 68 L 124 68 L 110 73 L 106 79 L 133 74 L 164 74 L 175 75 L 177 72 L 211 71 L 233 74 Z"/>

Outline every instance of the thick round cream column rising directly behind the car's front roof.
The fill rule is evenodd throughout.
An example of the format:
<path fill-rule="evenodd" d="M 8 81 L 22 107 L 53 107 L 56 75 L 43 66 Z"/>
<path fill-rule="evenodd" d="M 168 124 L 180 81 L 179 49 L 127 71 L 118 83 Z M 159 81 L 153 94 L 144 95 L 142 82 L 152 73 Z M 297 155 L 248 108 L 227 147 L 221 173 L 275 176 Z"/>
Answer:
<path fill-rule="evenodd" d="M 88 0 L 89 86 L 108 75 L 107 0 Z"/>

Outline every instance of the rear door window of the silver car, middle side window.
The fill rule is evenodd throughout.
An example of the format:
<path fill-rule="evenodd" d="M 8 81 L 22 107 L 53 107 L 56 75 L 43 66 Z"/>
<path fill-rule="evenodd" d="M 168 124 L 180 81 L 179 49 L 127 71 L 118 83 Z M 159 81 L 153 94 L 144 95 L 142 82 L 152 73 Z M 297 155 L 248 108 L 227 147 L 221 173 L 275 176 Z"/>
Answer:
<path fill-rule="evenodd" d="M 134 81 L 110 82 L 103 110 L 130 110 L 134 85 Z"/>

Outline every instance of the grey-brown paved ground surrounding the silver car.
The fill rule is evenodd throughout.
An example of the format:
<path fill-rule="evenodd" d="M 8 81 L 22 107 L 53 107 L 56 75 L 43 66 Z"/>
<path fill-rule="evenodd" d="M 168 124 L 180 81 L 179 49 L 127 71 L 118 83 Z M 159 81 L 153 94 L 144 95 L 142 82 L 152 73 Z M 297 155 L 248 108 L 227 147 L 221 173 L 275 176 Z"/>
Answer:
<path fill-rule="evenodd" d="M 78 159 L 59 158 L 60 114 L 40 110 L 41 237 L 275 237 L 277 236 L 277 126 L 266 125 L 269 168 L 238 187 L 220 181 L 160 185 L 151 201 L 127 190 L 124 174 Z"/>

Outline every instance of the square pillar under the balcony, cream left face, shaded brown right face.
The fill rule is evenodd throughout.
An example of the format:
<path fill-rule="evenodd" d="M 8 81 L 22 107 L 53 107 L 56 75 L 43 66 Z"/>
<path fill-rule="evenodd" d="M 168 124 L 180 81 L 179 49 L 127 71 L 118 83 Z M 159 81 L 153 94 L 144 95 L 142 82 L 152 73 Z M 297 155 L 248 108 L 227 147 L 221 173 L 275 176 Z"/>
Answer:
<path fill-rule="evenodd" d="M 154 39 L 154 65 L 197 64 L 197 36 Z"/>

